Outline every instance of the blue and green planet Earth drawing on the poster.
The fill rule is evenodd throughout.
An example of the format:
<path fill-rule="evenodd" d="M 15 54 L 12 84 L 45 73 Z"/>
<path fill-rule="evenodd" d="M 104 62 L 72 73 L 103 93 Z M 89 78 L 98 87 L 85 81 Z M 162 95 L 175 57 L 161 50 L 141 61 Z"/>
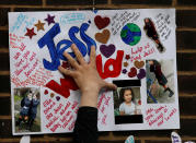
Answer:
<path fill-rule="evenodd" d="M 141 38 L 141 29 L 138 25 L 128 23 L 122 28 L 120 37 L 125 44 L 134 46 L 138 44 Z"/>

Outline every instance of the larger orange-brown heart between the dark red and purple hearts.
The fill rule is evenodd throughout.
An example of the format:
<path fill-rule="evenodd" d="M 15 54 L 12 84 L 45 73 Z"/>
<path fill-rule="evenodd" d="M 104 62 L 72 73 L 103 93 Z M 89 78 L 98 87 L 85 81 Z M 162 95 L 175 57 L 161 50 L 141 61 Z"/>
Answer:
<path fill-rule="evenodd" d="M 106 44 L 108 38 L 111 36 L 111 33 L 108 29 L 104 29 L 102 33 L 96 33 L 95 34 L 95 39 L 102 44 Z"/>

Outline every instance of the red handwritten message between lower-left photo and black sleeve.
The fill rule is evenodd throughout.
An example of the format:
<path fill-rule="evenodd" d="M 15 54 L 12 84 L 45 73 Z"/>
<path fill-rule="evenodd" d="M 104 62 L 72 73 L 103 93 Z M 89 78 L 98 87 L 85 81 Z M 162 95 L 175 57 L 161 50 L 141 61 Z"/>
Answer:
<path fill-rule="evenodd" d="M 78 112 L 78 102 L 67 102 L 67 104 L 56 103 L 53 99 L 46 99 L 43 103 L 44 115 L 46 117 L 46 128 L 51 132 L 58 129 L 68 129 L 71 131 L 74 127 L 74 115 Z"/>

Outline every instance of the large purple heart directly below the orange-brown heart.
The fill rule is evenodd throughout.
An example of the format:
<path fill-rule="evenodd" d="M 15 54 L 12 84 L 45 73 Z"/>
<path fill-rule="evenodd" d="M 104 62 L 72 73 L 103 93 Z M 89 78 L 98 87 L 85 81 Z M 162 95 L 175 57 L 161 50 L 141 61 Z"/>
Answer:
<path fill-rule="evenodd" d="M 115 49 L 116 49 L 116 47 L 113 44 L 111 44 L 108 46 L 106 46 L 106 45 L 100 46 L 101 53 L 103 56 L 105 56 L 106 58 L 111 57 L 114 53 Z"/>

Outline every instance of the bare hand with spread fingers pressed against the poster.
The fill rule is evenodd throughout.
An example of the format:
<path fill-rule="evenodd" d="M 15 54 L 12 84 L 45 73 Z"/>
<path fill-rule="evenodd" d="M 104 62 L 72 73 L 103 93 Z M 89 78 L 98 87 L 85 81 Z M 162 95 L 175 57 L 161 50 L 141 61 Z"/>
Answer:
<path fill-rule="evenodd" d="M 59 71 L 66 75 L 72 76 L 81 90 L 82 96 L 96 96 L 99 95 L 99 92 L 101 88 L 106 87 L 111 90 L 116 90 L 116 85 L 112 83 L 107 83 L 104 80 L 102 80 L 96 71 L 96 61 L 95 61 L 95 47 L 91 47 L 91 55 L 90 55 L 90 62 L 85 62 L 83 59 L 81 52 L 77 48 L 77 46 L 73 44 L 71 45 L 71 48 L 78 59 L 74 60 L 68 52 L 65 52 L 65 57 L 68 59 L 70 64 L 74 70 L 68 70 L 62 67 L 59 67 Z M 95 99 L 95 97 L 94 97 Z M 82 100 L 82 99 L 81 99 Z M 97 102 L 97 99 L 96 99 Z"/>

